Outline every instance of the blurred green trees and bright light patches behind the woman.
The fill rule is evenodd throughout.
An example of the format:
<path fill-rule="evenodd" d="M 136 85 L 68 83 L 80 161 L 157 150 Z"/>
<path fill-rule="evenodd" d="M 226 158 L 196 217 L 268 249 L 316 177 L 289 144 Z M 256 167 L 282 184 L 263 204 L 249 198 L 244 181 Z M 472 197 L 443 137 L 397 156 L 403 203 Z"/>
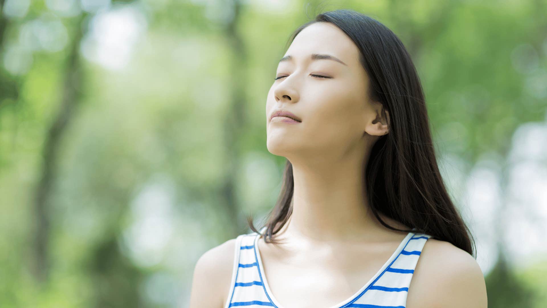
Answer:
<path fill-rule="evenodd" d="M 0 5 L 1 307 L 187 307 L 199 256 L 277 199 L 290 33 L 340 8 L 415 61 L 488 306 L 547 306 L 547 1 Z"/>

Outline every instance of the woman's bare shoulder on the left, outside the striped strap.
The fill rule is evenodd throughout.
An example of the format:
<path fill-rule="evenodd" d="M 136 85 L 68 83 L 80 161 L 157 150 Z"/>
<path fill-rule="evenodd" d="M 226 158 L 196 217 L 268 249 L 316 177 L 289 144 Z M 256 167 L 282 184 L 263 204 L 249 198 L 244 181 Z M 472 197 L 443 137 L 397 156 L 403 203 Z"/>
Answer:
<path fill-rule="evenodd" d="M 190 308 L 223 308 L 230 292 L 236 239 L 213 247 L 197 260 L 190 292 Z"/>

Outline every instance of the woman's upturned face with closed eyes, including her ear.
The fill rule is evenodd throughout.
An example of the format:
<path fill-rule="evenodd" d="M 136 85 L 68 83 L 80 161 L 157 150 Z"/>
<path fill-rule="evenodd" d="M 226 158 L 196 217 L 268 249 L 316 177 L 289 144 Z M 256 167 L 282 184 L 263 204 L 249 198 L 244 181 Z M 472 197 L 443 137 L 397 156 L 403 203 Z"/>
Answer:
<path fill-rule="evenodd" d="M 330 55 L 343 63 L 313 60 L 312 54 Z M 369 140 L 363 138 L 365 132 L 387 132 L 376 123 L 379 104 L 368 101 L 368 76 L 359 62 L 359 50 L 338 27 L 327 22 L 307 26 L 283 58 L 288 55 L 290 59 L 277 66 L 277 79 L 266 99 L 266 144 L 272 154 L 291 162 L 299 157 L 332 162 L 352 153 L 363 155 Z M 270 119 L 280 109 L 301 122 Z"/>

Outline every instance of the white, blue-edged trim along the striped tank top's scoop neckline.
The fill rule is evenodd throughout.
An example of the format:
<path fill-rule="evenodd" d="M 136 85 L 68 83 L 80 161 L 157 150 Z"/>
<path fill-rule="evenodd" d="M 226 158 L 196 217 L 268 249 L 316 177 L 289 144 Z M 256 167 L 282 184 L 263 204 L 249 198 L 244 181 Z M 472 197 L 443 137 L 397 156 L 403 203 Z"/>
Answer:
<path fill-rule="evenodd" d="M 264 230 L 265 227 L 262 229 Z M 260 233 L 262 233 L 263 231 L 260 230 Z M 415 228 L 413 228 L 412 230 L 415 230 Z M 397 249 L 395 249 L 395 251 L 393 252 L 393 254 L 389 257 L 389 259 L 382 265 L 382 267 L 380 268 L 380 270 L 378 270 L 374 276 L 372 278 L 370 278 L 370 280 L 368 282 L 365 283 L 365 285 L 363 287 L 361 287 L 359 290 L 357 290 L 356 293 L 354 293 L 352 296 L 350 296 L 350 298 L 348 299 L 345 299 L 344 301 L 341 301 L 340 303 L 338 304 L 335 304 L 333 306 L 330 306 L 330 307 L 325 307 L 325 308 L 342 308 L 344 307 L 345 305 L 347 304 L 351 304 L 353 303 L 353 301 L 357 300 L 358 298 L 360 298 L 365 292 L 366 290 L 368 290 L 368 288 L 374 283 L 376 282 L 376 280 L 378 278 L 380 278 L 380 276 L 383 275 L 383 272 L 386 271 L 387 267 L 391 266 L 391 264 L 393 263 L 393 261 L 395 261 L 395 259 L 397 259 L 397 257 L 400 255 L 401 251 L 406 247 L 406 245 L 408 244 L 408 242 L 410 241 L 410 238 L 412 238 L 412 236 L 415 235 L 415 232 L 409 232 L 405 238 L 403 238 L 403 241 L 401 241 L 399 243 L 399 246 L 397 247 Z M 258 239 L 261 237 L 260 234 L 257 234 L 257 236 L 255 236 L 254 238 L 254 258 L 255 258 L 255 262 L 257 263 L 257 268 L 258 268 L 258 275 L 260 277 L 260 282 L 262 283 L 262 286 L 264 288 L 264 292 L 266 293 L 266 296 L 267 298 L 270 300 L 270 303 L 274 305 L 274 307 L 276 308 L 284 308 L 283 306 L 281 306 L 279 304 L 279 302 L 275 299 L 275 296 L 272 294 L 271 290 L 270 290 L 270 286 L 267 282 L 267 279 L 266 279 L 266 275 L 264 275 L 264 266 L 262 265 L 262 258 L 260 257 L 260 250 L 258 249 Z M 363 293 L 363 294 L 362 294 Z"/>

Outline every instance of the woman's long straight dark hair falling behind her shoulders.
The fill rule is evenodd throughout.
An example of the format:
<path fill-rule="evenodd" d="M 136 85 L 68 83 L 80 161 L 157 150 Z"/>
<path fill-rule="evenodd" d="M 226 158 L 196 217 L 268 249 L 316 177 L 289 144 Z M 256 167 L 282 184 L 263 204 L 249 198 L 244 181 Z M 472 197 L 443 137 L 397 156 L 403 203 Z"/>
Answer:
<path fill-rule="evenodd" d="M 476 258 L 471 232 L 441 178 L 422 85 L 403 43 L 381 22 L 354 10 L 339 9 L 318 14 L 315 20 L 300 26 L 288 44 L 315 22 L 336 25 L 357 45 L 359 61 L 370 79 L 370 99 L 381 102 L 389 113 L 389 133 L 372 147 L 364 175 L 371 212 L 388 229 L 425 233 Z M 252 216 L 247 216 L 251 230 L 263 235 L 266 243 L 279 243 L 273 235 L 292 214 L 293 166 L 288 160 L 282 181 L 264 234 L 254 227 Z M 414 230 L 389 226 L 378 212 Z"/>

